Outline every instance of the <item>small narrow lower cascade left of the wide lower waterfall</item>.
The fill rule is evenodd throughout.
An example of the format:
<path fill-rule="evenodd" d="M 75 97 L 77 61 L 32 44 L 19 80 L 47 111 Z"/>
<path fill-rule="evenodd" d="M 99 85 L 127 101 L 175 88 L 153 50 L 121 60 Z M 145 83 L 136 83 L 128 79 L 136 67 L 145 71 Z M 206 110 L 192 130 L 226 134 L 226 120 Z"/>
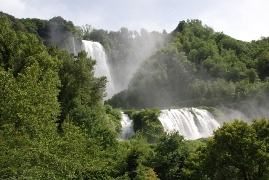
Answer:
<path fill-rule="evenodd" d="M 127 114 L 124 114 L 123 112 L 121 114 L 122 114 L 121 118 L 122 131 L 120 140 L 127 140 L 135 135 L 133 128 L 133 121 L 129 118 Z"/>

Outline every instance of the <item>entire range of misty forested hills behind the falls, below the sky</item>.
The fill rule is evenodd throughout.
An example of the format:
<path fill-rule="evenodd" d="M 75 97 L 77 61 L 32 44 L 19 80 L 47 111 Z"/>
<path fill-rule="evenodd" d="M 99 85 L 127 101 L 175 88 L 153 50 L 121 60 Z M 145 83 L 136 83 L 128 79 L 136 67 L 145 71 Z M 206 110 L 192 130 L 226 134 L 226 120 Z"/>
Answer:
<path fill-rule="evenodd" d="M 269 38 L 239 41 L 199 20 L 181 21 L 168 34 L 79 27 L 62 17 L 8 16 L 16 31 L 75 55 L 82 39 L 100 42 L 117 90 L 125 89 L 105 102 L 113 107 L 225 106 L 250 114 L 262 114 L 257 110 L 268 107 Z M 249 111 L 252 107 L 255 112 Z"/>

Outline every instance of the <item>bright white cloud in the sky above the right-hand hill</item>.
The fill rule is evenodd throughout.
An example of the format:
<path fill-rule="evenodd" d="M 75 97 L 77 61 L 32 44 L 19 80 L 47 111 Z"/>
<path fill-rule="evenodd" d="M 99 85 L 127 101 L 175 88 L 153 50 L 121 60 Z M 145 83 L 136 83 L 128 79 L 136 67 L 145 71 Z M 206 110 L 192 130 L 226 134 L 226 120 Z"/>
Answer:
<path fill-rule="evenodd" d="M 236 39 L 251 41 L 261 36 L 269 36 L 269 2 L 264 0 L 223 1 L 212 7 L 212 11 L 203 12 L 200 19 Z"/>

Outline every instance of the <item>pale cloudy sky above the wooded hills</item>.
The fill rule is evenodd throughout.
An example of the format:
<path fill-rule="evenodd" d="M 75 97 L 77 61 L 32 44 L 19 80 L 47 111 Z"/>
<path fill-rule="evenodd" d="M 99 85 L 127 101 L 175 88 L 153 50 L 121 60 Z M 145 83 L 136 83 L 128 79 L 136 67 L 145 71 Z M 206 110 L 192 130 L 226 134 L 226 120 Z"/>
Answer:
<path fill-rule="evenodd" d="M 269 37 L 268 0 L 0 0 L 0 11 L 16 18 L 61 16 L 96 29 L 173 31 L 182 20 L 243 41 Z"/>

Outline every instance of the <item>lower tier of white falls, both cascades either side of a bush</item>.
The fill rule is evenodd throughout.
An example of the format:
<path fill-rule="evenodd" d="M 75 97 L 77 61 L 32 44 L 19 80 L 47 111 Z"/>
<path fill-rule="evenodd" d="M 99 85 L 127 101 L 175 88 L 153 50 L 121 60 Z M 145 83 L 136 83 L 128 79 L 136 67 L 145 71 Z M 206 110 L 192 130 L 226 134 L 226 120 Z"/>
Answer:
<path fill-rule="evenodd" d="M 162 110 L 159 120 L 167 133 L 178 131 L 187 140 L 212 136 L 220 126 L 210 112 L 197 108 Z M 127 115 L 122 114 L 121 124 L 122 140 L 134 135 L 133 122 Z"/>

